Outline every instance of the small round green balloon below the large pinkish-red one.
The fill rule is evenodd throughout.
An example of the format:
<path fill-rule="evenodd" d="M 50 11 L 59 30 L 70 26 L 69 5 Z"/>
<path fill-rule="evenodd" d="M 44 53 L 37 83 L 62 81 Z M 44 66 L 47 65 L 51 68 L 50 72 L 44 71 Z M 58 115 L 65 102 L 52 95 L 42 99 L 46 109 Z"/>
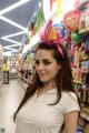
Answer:
<path fill-rule="evenodd" d="M 71 39 L 75 43 L 79 43 L 82 40 L 83 35 L 77 31 L 71 33 Z"/>

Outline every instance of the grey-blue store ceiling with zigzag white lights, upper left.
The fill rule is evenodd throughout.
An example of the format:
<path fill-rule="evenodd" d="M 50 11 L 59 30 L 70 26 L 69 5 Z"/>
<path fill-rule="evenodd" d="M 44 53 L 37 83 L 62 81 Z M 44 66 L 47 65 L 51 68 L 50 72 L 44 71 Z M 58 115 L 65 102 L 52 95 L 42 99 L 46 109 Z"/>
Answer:
<path fill-rule="evenodd" d="M 18 52 L 38 1 L 0 0 L 0 44 L 3 52 Z"/>

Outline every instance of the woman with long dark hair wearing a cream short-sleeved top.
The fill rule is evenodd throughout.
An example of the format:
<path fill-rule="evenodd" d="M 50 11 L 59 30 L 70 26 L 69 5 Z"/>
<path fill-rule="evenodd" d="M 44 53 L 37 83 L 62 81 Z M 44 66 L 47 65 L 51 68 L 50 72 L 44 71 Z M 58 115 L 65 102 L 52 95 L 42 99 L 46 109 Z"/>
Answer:
<path fill-rule="evenodd" d="M 65 48 L 40 42 L 36 52 L 36 75 L 13 120 L 17 133 L 76 133 L 78 99 Z"/>

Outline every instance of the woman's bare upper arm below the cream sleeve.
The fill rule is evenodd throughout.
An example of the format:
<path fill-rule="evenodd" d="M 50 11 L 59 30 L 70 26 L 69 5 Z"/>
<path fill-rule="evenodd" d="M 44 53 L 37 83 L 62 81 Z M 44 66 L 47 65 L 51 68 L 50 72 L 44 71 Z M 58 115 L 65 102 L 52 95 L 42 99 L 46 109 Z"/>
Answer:
<path fill-rule="evenodd" d="M 78 111 L 65 115 L 65 133 L 77 133 L 78 115 Z"/>

